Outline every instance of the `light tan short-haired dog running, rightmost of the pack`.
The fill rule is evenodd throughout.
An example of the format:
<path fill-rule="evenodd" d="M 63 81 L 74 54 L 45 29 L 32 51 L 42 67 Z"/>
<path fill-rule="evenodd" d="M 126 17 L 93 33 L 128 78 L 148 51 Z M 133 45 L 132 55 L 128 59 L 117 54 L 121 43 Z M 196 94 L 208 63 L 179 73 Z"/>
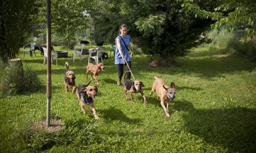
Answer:
<path fill-rule="evenodd" d="M 173 101 L 175 99 L 175 94 L 176 94 L 175 83 L 174 82 L 170 83 L 170 87 L 168 87 L 161 78 L 155 77 L 155 81 L 152 85 L 150 96 L 155 90 L 157 92 L 158 97 L 160 97 L 161 99 L 161 105 L 163 107 L 163 110 L 165 111 L 166 116 L 169 118 L 170 114 L 168 113 L 168 107 L 169 107 L 170 101 Z M 166 107 L 165 107 L 165 101 L 168 101 Z"/>

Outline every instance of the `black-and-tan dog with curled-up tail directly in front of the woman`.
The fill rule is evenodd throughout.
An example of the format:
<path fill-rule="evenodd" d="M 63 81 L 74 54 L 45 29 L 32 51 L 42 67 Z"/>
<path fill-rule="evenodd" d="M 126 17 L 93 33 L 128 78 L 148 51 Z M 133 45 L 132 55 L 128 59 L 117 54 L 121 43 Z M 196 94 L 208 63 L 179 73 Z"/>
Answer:
<path fill-rule="evenodd" d="M 126 76 L 127 72 L 130 72 L 130 71 L 126 71 L 125 76 Z M 143 99 L 144 99 L 144 104 L 147 104 L 148 101 L 145 97 L 145 94 L 143 93 L 143 89 L 142 89 L 143 86 L 144 86 L 144 84 L 141 81 L 137 81 L 137 80 L 132 81 L 130 79 L 125 79 L 123 81 L 123 90 L 125 92 L 126 99 L 129 100 L 129 98 L 127 96 L 127 93 L 126 93 L 127 90 L 130 92 L 131 103 L 134 103 L 133 93 L 138 93 L 139 92 L 141 94 L 141 96 L 143 97 Z"/>

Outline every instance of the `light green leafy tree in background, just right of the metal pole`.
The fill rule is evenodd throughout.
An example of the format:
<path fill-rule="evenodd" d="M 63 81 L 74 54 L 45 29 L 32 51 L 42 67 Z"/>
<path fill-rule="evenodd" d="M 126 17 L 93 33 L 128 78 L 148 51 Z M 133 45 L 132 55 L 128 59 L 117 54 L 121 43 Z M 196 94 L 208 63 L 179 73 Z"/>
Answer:
<path fill-rule="evenodd" d="M 66 46 L 71 44 L 79 28 L 88 28 L 90 18 L 85 11 L 92 6 L 94 1 L 83 0 L 54 0 L 52 1 L 52 32 L 65 38 Z"/>

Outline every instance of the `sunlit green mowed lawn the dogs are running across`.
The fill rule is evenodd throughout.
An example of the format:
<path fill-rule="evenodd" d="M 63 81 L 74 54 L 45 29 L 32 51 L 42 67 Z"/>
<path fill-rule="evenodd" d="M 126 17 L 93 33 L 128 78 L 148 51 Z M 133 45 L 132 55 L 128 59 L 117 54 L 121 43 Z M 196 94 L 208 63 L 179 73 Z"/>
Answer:
<path fill-rule="evenodd" d="M 54 60 L 51 75 L 51 116 L 62 119 L 67 129 L 53 136 L 30 137 L 29 123 L 46 119 L 47 65 L 38 51 L 36 57 L 19 54 L 24 67 L 31 67 L 43 86 L 33 93 L 1 99 L 0 152 L 255 152 L 256 63 L 207 47 L 177 58 L 176 66 L 148 67 L 146 56 L 135 55 L 132 72 L 145 85 L 148 104 L 144 105 L 140 93 L 133 94 L 132 104 L 125 99 L 122 86 L 116 86 L 112 53 L 98 77 L 94 101 L 100 119 L 95 121 L 92 114 L 81 112 L 76 94 L 65 93 L 65 61 L 76 74 L 76 85 L 87 83 L 88 56 L 73 62 L 71 55 L 69 50 L 69 57 L 59 59 L 58 65 Z M 155 76 L 176 84 L 170 118 L 157 94 L 149 96 Z M 76 133 L 81 136 L 73 137 Z"/>

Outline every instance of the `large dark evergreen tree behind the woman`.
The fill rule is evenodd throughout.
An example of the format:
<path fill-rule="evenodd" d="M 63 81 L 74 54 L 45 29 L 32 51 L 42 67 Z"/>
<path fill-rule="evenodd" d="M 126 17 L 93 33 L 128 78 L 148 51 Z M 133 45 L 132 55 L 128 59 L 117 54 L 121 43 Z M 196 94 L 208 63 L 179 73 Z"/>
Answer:
<path fill-rule="evenodd" d="M 119 25 L 126 23 L 133 43 L 145 54 L 159 55 L 165 62 L 169 57 L 174 60 L 175 56 L 186 54 L 195 44 L 202 25 L 209 25 L 180 9 L 182 3 L 176 0 L 109 0 L 100 1 L 90 14 L 98 37 L 114 41 Z"/>

